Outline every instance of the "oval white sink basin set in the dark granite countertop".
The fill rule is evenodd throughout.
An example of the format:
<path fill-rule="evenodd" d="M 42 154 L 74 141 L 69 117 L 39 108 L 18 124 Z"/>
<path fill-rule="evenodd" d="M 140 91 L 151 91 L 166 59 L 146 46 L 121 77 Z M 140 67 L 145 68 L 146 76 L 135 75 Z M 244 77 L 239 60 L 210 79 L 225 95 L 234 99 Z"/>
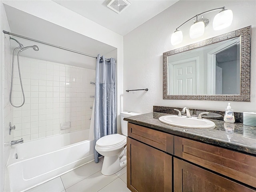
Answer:
<path fill-rule="evenodd" d="M 160 122 L 187 129 L 212 129 L 215 123 L 207 119 L 197 117 L 187 118 L 186 116 L 167 115 L 159 118 Z"/>

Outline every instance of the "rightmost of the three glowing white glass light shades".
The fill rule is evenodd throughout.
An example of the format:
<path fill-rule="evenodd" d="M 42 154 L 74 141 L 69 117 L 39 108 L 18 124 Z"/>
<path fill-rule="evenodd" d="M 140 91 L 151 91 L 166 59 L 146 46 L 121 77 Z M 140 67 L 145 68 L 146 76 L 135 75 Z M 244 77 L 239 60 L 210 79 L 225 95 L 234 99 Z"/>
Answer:
<path fill-rule="evenodd" d="M 221 30 L 231 25 L 233 20 L 232 10 L 224 9 L 220 11 L 213 19 L 213 29 Z"/>

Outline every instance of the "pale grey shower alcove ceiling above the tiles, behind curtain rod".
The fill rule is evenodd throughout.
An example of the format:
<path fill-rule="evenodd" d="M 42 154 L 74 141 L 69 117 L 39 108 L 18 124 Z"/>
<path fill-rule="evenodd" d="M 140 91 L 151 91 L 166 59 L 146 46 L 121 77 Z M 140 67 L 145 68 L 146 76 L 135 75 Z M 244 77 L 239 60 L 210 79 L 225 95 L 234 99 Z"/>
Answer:
<path fill-rule="evenodd" d="M 14 34 L 76 50 L 92 56 L 97 56 L 98 54 L 104 55 L 116 49 L 113 46 L 68 30 L 26 12 L 22 12 L 6 4 L 4 8 L 11 32 Z M 16 36 L 12 37 L 22 43 L 24 47 L 34 44 L 39 47 L 39 51 L 34 51 L 33 49 L 24 50 L 20 53 L 20 56 L 95 69 L 95 58 L 32 42 Z M 18 43 L 14 40 L 11 40 L 11 45 L 12 50 L 18 47 Z"/>

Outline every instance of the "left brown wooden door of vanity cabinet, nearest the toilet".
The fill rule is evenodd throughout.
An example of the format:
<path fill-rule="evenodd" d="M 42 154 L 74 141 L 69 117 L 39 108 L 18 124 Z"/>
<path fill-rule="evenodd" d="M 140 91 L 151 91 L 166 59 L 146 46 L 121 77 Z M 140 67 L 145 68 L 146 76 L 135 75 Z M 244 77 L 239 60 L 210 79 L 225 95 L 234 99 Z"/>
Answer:
<path fill-rule="evenodd" d="M 127 187 L 132 192 L 172 192 L 172 156 L 127 138 Z"/>

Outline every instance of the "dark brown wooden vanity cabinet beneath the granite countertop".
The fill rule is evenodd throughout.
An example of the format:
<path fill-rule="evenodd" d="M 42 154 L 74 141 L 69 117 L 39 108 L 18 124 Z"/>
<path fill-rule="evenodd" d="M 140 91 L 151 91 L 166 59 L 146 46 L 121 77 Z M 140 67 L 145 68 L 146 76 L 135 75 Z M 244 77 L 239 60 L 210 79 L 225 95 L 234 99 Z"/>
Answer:
<path fill-rule="evenodd" d="M 132 192 L 256 192 L 256 157 L 128 123 L 127 187 Z"/>

